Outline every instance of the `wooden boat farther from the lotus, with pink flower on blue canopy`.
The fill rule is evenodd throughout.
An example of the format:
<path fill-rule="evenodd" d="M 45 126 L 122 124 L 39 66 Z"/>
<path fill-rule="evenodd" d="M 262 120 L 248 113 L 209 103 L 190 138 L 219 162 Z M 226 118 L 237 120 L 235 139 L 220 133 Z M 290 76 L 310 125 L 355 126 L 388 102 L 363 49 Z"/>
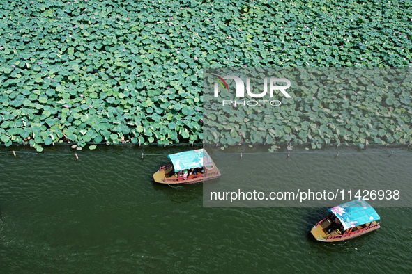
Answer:
<path fill-rule="evenodd" d="M 318 241 L 344 241 L 381 227 L 378 213 L 362 199 L 340 204 L 328 211 L 329 215 L 312 227 L 311 233 Z"/>

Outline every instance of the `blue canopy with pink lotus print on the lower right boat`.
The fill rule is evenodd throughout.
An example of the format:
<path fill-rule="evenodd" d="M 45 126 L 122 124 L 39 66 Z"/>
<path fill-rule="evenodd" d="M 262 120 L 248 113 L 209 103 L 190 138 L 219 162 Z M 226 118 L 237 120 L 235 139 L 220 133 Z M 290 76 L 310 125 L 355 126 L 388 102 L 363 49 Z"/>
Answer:
<path fill-rule="evenodd" d="M 339 218 L 345 230 L 381 219 L 375 209 L 362 199 L 346 202 L 329 211 Z"/>

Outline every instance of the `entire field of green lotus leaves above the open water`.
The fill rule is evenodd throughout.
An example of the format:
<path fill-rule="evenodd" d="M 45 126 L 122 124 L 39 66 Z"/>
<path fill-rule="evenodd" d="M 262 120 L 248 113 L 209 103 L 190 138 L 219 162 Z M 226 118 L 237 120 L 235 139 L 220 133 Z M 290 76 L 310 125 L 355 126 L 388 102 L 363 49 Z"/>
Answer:
<path fill-rule="evenodd" d="M 1 31 L 12 34 L 1 35 L 0 41 L 0 127 L 22 128 L 15 134 L 19 138 L 10 136 L 7 143 L 56 130 L 73 142 L 89 136 L 96 143 L 103 138 L 115 143 L 119 134 L 134 134 L 126 141 L 187 143 L 203 139 L 202 126 L 218 130 L 219 136 L 206 130 L 205 137 L 211 143 L 221 139 L 222 145 L 240 138 L 251 143 L 321 140 L 318 145 L 410 141 L 411 87 L 389 69 L 388 76 L 357 71 L 412 65 L 408 1 L 300 1 L 292 6 L 284 1 L 204 1 L 188 2 L 183 9 L 168 2 L 40 1 L 29 8 L 20 2 L 6 1 L 0 8 L 8 20 Z M 306 90 L 281 99 L 275 113 L 239 113 L 243 106 L 230 106 L 213 110 L 224 119 L 203 122 L 208 106 L 201 86 L 207 67 L 353 70 L 323 79 L 316 77 L 319 71 L 302 71 L 296 76 L 304 79 Z M 6 112 L 13 116 L 6 118 Z M 96 135 L 79 133 L 89 129 Z M 139 136 L 149 129 L 153 133 L 146 140 Z M 58 136 L 63 140 L 63 134 Z M 47 138 L 36 139 L 35 148 L 43 150 Z"/>

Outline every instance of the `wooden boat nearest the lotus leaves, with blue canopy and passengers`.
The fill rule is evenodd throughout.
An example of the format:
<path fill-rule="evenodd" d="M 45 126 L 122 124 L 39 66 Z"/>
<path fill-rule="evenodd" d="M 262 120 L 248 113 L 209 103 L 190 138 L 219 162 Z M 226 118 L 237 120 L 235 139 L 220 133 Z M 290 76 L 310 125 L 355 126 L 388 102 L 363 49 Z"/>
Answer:
<path fill-rule="evenodd" d="M 204 149 L 169 154 L 171 163 L 153 174 L 159 184 L 194 184 L 220 177 L 211 156 Z"/>

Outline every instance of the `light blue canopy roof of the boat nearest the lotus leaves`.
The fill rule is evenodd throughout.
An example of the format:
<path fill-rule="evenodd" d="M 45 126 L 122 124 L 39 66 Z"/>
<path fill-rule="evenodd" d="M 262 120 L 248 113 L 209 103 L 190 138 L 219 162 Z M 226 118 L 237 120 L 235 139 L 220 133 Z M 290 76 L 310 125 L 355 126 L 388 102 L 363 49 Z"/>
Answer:
<path fill-rule="evenodd" d="M 209 156 L 204 149 L 179 152 L 170 154 L 168 157 L 171 160 L 171 163 L 173 163 L 174 171 L 176 172 L 190 168 L 213 165 L 211 156 Z"/>

